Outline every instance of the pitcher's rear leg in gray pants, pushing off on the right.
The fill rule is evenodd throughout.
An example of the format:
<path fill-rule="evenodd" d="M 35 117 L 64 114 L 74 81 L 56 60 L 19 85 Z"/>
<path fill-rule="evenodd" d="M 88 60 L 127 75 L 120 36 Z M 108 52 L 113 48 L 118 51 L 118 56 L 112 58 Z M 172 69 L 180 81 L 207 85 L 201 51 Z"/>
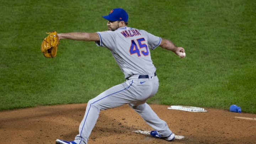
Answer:
<path fill-rule="evenodd" d="M 149 126 L 158 131 L 162 137 L 167 137 L 172 133 L 166 122 L 160 119 L 147 103 L 138 106 L 129 106 L 133 108 Z"/>

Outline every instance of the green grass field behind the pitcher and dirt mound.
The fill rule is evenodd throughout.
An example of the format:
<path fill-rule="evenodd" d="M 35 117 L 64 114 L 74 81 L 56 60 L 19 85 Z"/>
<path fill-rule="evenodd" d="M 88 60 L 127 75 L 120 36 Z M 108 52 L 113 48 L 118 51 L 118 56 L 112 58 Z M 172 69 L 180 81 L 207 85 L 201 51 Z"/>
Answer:
<path fill-rule="evenodd" d="M 160 80 L 149 103 L 256 113 L 256 1 L 0 1 L 0 110 L 86 103 L 124 81 L 111 53 L 93 42 L 62 40 L 57 57 L 40 51 L 45 32 L 106 30 L 116 7 L 128 26 L 173 41 L 186 58 L 151 51 Z"/>

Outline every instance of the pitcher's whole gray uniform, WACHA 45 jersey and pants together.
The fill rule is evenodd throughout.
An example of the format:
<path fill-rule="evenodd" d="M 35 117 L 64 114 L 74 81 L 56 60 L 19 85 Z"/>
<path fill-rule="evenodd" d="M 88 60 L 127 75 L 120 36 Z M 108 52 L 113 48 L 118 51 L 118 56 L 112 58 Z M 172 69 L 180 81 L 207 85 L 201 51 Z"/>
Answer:
<path fill-rule="evenodd" d="M 74 142 L 87 144 L 101 110 L 125 104 L 129 104 L 162 137 L 169 136 L 172 132 L 166 122 L 146 103 L 148 98 L 156 94 L 159 87 L 149 49 L 159 46 L 161 38 L 130 27 L 97 33 L 100 36 L 100 41 L 96 42 L 97 46 L 111 50 L 127 80 L 88 101 L 79 126 L 79 134 L 76 135 Z"/>

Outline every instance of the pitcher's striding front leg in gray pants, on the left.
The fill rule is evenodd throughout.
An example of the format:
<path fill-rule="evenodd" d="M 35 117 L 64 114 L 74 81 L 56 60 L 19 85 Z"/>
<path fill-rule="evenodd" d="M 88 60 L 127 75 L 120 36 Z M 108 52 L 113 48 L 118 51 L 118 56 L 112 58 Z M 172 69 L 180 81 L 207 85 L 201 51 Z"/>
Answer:
<path fill-rule="evenodd" d="M 77 144 L 87 144 L 101 110 L 122 106 L 130 102 L 127 89 L 131 85 L 124 82 L 113 86 L 87 103 L 84 118 L 79 126 L 79 134 L 76 135 L 74 140 Z"/>

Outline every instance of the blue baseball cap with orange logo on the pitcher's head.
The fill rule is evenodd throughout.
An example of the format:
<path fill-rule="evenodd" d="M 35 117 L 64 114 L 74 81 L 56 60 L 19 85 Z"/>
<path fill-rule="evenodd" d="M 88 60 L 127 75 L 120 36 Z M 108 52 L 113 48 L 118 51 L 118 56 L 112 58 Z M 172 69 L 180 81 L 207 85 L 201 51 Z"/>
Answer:
<path fill-rule="evenodd" d="M 107 16 L 102 16 L 108 21 L 124 21 L 128 22 L 128 14 L 122 8 L 116 8 L 110 11 Z"/>

